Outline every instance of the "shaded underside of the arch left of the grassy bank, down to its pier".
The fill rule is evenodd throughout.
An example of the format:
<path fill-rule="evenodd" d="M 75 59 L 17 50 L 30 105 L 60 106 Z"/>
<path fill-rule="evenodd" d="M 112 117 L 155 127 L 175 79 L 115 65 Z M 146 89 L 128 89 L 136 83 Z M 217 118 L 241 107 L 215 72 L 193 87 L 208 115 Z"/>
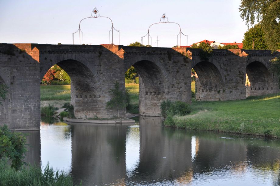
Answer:
<path fill-rule="evenodd" d="M 137 61 L 132 66 L 139 75 L 139 114 L 159 116 L 160 103 L 165 100 L 164 77 L 152 61 Z"/>

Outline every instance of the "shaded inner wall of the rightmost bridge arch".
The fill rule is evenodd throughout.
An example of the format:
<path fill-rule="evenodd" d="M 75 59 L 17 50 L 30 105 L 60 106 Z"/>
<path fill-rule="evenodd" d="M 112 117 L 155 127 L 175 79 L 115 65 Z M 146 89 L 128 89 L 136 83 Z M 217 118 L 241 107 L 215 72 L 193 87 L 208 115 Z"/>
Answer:
<path fill-rule="evenodd" d="M 268 68 L 260 61 L 246 66 L 246 97 L 273 93 L 273 78 Z"/>

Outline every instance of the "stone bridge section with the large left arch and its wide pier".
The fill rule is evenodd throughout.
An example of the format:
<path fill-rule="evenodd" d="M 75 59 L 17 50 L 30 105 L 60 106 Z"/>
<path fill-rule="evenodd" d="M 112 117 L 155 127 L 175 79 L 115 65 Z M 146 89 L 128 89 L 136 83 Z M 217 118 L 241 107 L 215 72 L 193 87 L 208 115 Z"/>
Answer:
<path fill-rule="evenodd" d="M 110 89 L 115 81 L 122 85 L 122 59 L 101 45 L 82 46 L 82 50 L 75 51 L 75 45 L 54 47 L 39 46 L 40 52 L 40 80 L 53 65 L 57 64 L 71 78 L 71 104 L 74 106 L 76 118 L 111 118 L 117 111 L 106 109 L 106 103 L 111 98 Z M 69 49 L 70 48 L 70 49 Z M 114 73 L 113 73 L 114 72 Z M 124 116 L 124 110 L 120 111 Z"/>

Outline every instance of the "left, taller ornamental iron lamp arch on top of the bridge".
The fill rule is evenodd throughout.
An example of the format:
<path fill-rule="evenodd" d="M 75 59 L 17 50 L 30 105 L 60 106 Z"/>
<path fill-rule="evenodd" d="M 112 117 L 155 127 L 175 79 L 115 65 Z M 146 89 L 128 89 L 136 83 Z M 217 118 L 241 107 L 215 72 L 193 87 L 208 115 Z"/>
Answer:
<path fill-rule="evenodd" d="M 84 19 L 88 19 L 88 18 L 100 18 L 100 17 L 103 17 L 103 18 L 108 18 L 110 19 L 109 17 L 105 17 L 105 16 L 100 16 L 99 14 L 99 11 L 96 9 L 96 7 L 94 7 L 93 11 L 91 12 L 91 16 L 90 17 L 86 17 Z M 80 40 L 80 44 L 81 44 L 81 33 L 82 33 L 82 43 L 84 43 L 84 33 L 82 32 L 81 30 L 81 22 L 84 20 L 82 19 L 79 23 L 79 29 L 76 31 L 76 32 L 73 32 L 72 33 L 72 39 L 73 39 L 73 44 L 74 44 L 74 34 L 79 32 L 79 40 Z M 113 43 L 113 30 L 117 31 L 119 33 L 119 44 L 121 42 L 121 36 L 120 36 L 120 30 L 117 30 L 115 29 L 115 27 L 113 26 L 113 21 L 112 19 L 110 19 L 111 23 L 112 23 L 112 26 L 111 26 L 111 29 L 109 30 L 109 43 L 111 43 L 111 31 L 112 31 L 112 44 Z"/>

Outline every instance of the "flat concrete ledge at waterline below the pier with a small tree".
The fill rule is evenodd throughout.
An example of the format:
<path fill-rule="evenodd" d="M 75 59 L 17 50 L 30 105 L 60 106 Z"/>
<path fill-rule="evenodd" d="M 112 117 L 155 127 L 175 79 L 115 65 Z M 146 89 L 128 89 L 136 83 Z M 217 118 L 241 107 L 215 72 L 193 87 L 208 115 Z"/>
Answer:
<path fill-rule="evenodd" d="M 73 118 L 63 118 L 63 121 L 68 121 L 72 123 L 135 123 L 133 119 L 108 119 L 108 120 L 90 120 L 90 119 L 73 119 Z"/>

